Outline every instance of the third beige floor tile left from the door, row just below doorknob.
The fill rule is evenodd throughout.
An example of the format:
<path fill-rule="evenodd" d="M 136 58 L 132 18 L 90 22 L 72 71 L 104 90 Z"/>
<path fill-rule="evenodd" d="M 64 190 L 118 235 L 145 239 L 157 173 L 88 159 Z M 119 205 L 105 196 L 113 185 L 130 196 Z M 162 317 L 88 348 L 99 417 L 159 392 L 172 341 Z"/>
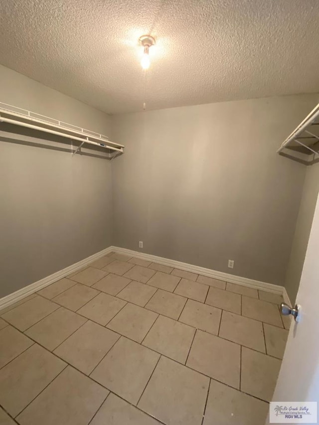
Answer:
<path fill-rule="evenodd" d="M 178 320 L 217 335 L 221 312 L 219 308 L 188 299 Z"/>

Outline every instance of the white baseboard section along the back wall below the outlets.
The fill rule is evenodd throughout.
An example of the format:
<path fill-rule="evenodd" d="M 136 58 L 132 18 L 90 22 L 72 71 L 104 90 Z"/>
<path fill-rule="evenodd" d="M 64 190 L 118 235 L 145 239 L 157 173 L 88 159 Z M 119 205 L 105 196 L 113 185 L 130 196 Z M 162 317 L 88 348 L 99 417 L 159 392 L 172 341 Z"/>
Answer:
<path fill-rule="evenodd" d="M 283 294 L 285 289 L 283 286 L 280 285 L 274 285 L 272 283 L 266 283 L 261 281 L 254 281 L 253 279 L 242 278 L 240 276 L 230 275 L 228 273 L 223 272 L 217 272 L 216 270 L 205 269 L 204 267 L 194 266 L 192 264 L 182 263 L 180 261 L 169 260 L 168 258 L 157 257 L 155 255 L 144 254 L 138 251 L 128 250 L 126 248 L 111 247 L 111 249 L 112 251 L 117 252 L 119 254 L 126 254 L 132 257 L 140 258 L 142 260 L 149 260 L 154 263 L 159 263 L 164 266 L 187 270 L 188 272 L 196 273 L 198 275 L 208 276 L 209 278 L 218 279 L 224 282 L 237 283 L 238 285 L 248 286 L 254 289 L 262 289 L 267 292 Z"/>

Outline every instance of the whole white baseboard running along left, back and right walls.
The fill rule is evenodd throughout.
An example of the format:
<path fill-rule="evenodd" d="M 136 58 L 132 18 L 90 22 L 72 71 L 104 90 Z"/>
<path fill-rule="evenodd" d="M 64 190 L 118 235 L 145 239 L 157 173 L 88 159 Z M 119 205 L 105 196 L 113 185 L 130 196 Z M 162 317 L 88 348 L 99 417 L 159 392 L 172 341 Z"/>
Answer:
<path fill-rule="evenodd" d="M 126 254 L 131 257 L 137 257 L 142 260 L 149 260 L 154 263 L 159 263 L 164 266 L 174 267 L 176 269 L 186 270 L 188 272 L 196 273 L 198 275 L 207 276 L 209 278 L 218 279 L 220 281 L 237 283 L 238 285 L 247 286 L 254 289 L 262 289 L 267 292 L 273 292 L 282 294 L 284 296 L 285 302 L 290 304 L 290 300 L 287 294 L 286 289 L 283 286 L 274 285 L 272 283 L 254 281 L 253 279 L 242 278 L 240 276 L 230 275 L 228 273 L 217 272 L 216 270 L 205 269 L 204 267 L 194 266 L 192 264 L 182 263 L 180 261 L 169 260 L 168 258 L 158 257 L 156 255 L 145 254 L 138 251 L 128 250 L 126 248 L 119 247 L 108 247 L 96 254 L 91 255 L 90 257 L 85 258 L 84 260 L 79 261 L 78 263 L 72 264 L 71 266 L 66 267 L 53 275 L 47 276 L 46 278 L 41 279 L 40 281 L 31 283 L 27 286 L 24 286 L 21 289 L 18 289 L 15 292 L 10 293 L 9 295 L 4 296 L 0 299 L 0 310 L 5 308 L 16 301 L 19 301 L 22 298 L 25 298 L 28 295 L 44 288 L 45 286 L 50 285 L 53 282 L 58 281 L 59 279 L 64 278 L 65 276 L 70 275 L 73 272 L 76 272 L 79 269 L 82 269 L 89 263 L 92 263 L 94 260 L 109 254 L 110 252 L 116 252 L 119 254 Z"/>

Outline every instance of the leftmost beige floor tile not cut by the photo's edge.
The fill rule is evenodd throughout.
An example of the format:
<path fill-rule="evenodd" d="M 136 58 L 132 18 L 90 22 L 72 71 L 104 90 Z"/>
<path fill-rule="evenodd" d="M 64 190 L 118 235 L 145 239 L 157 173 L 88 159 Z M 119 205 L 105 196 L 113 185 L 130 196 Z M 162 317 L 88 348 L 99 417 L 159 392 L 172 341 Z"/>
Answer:
<path fill-rule="evenodd" d="M 84 317 L 60 307 L 31 326 L 25 334 L 52 351 L 85 322 Z"/>

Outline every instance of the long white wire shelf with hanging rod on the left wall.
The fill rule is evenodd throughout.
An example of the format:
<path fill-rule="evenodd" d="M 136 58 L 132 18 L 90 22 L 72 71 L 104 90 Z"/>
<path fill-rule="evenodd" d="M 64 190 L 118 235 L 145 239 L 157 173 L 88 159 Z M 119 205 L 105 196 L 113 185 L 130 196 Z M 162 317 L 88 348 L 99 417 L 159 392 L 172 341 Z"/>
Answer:
<path fill-rule="evenodd" d="M 0 123 L 13 124 L 81 142 L 72 152 L 72 155 L 77 153 L 84 143 L 108 149 L 113 153 L 111 159 L 123 153 L 123 144 L 111 142 L 107 136 L 100 133 L 82 129 L 81 127 L 73 126 L 72 124 L 3 102 L 0 102 Z"/>

